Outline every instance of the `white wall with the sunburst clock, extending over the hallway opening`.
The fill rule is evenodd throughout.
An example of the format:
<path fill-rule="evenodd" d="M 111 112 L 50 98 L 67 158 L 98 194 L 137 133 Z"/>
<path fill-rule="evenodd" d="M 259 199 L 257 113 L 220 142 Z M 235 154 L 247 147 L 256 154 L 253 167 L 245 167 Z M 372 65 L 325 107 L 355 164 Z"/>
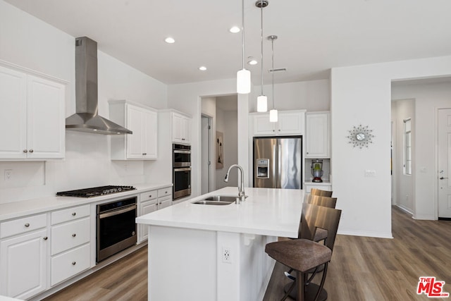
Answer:
<path fill-rule="evenodd" d="M 331 170 L 337 208 L 343 210 L 340 233 L 392 237 L 391 81 L 450 74 L 451 56 L 331 70 Z M 421 108 L 417 106 L 416 111 Z M 345 138 L 359 124 L 374 130 L 376 137 L 369 149 L 353 149 Z M 365 170 L 376 171 L 376 176 L 366 178 Z"/>

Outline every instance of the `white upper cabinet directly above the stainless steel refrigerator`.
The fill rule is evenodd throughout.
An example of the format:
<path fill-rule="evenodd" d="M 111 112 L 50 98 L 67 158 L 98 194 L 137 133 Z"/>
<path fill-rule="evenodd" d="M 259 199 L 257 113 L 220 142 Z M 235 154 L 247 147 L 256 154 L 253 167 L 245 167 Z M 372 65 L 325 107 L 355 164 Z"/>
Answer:
<path fill-rule="evenodd" d="M 278 122 L 269 121 L 269 113 L 255 113 L 254 136 L 304 135 L 305 111 L 279 111 Z"/>

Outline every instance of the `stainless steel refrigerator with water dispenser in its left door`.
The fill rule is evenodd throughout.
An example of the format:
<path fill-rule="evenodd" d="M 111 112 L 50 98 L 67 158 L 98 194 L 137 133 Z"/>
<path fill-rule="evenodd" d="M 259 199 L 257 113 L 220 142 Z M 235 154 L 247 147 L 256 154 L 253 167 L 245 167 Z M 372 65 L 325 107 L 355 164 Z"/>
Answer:
<path fill-rule="evenodd" d="M 254 187 L 302 189 L 302 136 L 254 137 Z"/>

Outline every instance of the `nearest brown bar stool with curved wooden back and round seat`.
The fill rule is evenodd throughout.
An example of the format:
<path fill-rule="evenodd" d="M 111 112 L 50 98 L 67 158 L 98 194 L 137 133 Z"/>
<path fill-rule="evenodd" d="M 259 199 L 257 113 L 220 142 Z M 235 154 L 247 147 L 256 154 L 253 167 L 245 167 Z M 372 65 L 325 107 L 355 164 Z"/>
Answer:
<path fill-rule="evenodd" d="M 319 295 L 327 293 L 323 290 L 326 281 L 328 262 L 332 257 L 335 236 L 340 222 L 341 210 L 320 207 L 313 204 L 303 204 L 301 235 L 297 240 L 283 240 L 268 243 L 265 252 L 281 264 L 285 264 L 296 271 L 296 281 L 293 282 L 282 300 L 285 300 L 295 286 L 297 287 L 297 300 L 304 301 L 304 295 L 314 296 L 317 300 Z M 316 228 L 327 231 L 325 244 L 314 242 Z M 306 290 L 307 275 L 309 270 L 324 265 L 323 276 L 319 286 L 309 283 Z"/>

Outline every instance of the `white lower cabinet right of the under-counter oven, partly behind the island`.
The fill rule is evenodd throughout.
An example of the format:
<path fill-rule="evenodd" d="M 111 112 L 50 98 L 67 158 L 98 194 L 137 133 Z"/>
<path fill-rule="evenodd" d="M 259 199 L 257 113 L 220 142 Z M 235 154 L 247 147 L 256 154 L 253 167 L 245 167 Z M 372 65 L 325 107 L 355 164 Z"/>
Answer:
<path fill-rule="evenodd" d="M 140 211 L 138 216 L 149 214 L 159 209 L 172 206 L 172 186 L 159 190 L 149 190 L 140 194 Z M 138 242 L 147 240 L 149 226 L 140 224 Z"/>

